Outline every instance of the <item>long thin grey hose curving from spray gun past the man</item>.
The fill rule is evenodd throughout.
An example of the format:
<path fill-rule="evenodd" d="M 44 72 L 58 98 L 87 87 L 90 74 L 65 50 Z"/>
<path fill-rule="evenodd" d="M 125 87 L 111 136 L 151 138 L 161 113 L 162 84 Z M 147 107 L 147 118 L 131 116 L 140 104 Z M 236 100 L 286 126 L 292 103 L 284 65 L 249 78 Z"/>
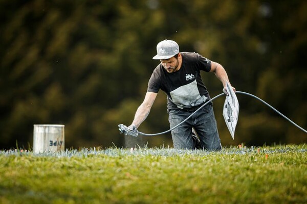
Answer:
<path fill-rule="evenodd" d="M 253 95 L 253 94 L 250 94 L 250 93 L 246 93 L 246 92 L 243 92 L 243 91 L 236 91 L 235 93 L 240 93 L 240 94 L 245 94 L 245 95 L 249 95 L 249 96 L 252 96 L 258 100 L 260 100 L 262 103 L 264 103 L 265 105 L 267 105 L 268 107 L 270 107 L 271 109 L 273 109 L 276 113 L 278 113 L 279 115 L 281 115 L 282 117 L 284 117 L 285 119 L 287 119 L 289 122 L 291 122 L 292 124 L 294 124 L 296 127 L 298 127 L 298 129 L 302 130 L 303 132 L 307 133 L 306 130 L 304 130 L 302 127 L 298 126 L 296 123 L 294 123 L 292 120 L 290 120 L 289 118 L 287 118 L 286 116 L 284 116 L 282 113 L 280 113 L 279 111 L 277 111 L 275 108 L 273 108 L 271 105 L 269 105 L 266 101 L 258 98 L 257 96 Z M 169 129 L 168 131 L 164 131 L 164 132 L 161 132 L 161 133 L 156 133 L 156 134 L 146 134 L 146 133 L 142 133 L 142 132 L 138 132 L 138 134 L 140 135 L 144 135 L 144 136 L 157 136 L 157 135 L 162 135 L 162 134 L 165 134 L 165 133 L 168 133 L 172 130 L 174 130 L 175 128 L 177 128 L 179 125 L 181 125 L 182 123 L 184 123 L 185 121 L 187 121 L 190 117 L 192 117 L 192 115 L 194 115 L 196 112 L 198 112 L 199 110 L 201 110 L 204 106 L 206 106 L 207 104 L 209 104 L 212 100 L 222 96 L 222 95 L 225 95 L 224 93 L 221 93 L 221 94 L 218 94 L 217 96 L 211 98 L 210 100 L 208 100 L 204 105 L 202 105 L 199 109 L 197 109 L 195 112 L 193 112 L 189 117 L 187 117 L 184 121 L 182 121 L 181 123 L 179 123 L 178 125 L 172 127 L 171 129 Z"/>

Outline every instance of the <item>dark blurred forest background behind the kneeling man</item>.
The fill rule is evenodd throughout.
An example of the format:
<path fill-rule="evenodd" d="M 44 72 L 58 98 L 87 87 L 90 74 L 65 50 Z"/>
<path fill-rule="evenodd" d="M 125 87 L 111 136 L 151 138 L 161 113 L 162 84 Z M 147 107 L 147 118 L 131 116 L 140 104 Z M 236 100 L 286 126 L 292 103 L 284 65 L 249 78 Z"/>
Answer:
<path fill-rule="evenodd" d="M 64 124 L 65 147 L 125 146 L 129 125 L 159 61 L 156 45 L 178 42 L 222 64 L 238 91 L 264 99 L 307 127 L 307 1 L 0 0 L 0 149 L 29 148 L 33 124 Z M 203 73 L 211 97 L 222 93 Z M 232 140 L 214 101 L 222 145 L 306 143 L 307 134 L 254 98 L 237 94 Z M 145 133 L 169 129 L 161 92 Z M 172 146 L 170 134 L 139 137 Z"/>

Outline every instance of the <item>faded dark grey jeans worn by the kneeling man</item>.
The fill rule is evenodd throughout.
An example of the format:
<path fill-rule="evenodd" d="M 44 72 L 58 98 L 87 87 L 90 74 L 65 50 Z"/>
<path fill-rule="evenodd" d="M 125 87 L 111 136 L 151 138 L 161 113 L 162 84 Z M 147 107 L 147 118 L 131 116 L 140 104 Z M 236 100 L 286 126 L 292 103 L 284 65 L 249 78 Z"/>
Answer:
<path fill-rule="evenodd" d="M 191 114 L 192 112 L 182 110 L 170 110 L 168 116 L 170 128 L 176 126 Z M 186 122 L 171 131 L 171 137 L 175 148 L 193 148 L 191 137 L 192 127 L 194 127 L 194 130 L 198 134 L 204 149 L 222 149 L 212 105 L 208 104 L 203 107 L 202 110 L 196 112 Z"/>

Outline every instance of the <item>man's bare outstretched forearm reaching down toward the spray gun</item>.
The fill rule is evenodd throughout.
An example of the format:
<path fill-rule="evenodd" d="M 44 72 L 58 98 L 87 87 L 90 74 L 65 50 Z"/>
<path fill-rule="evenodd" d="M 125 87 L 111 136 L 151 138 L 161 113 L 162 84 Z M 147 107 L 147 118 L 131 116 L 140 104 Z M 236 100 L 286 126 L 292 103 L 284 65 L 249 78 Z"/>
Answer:
<path fill-rule="evenodd" d="M 147 92 L 144 98 L 143 103 L 141 106 L 138 108 L 134 120 L 129 126 L 129 129 L 138 129 L 140 124 L 147 118 L 150 109 L 153 105 L 153 102 L 155 101 L 158 93 L 153 93 L 153 92 Z"/>

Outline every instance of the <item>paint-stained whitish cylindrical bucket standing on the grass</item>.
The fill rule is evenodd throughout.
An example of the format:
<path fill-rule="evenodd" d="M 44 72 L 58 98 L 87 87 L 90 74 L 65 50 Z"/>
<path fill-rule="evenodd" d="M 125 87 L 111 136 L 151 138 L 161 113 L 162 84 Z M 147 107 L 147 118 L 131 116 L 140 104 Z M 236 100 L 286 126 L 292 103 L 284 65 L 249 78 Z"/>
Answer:
<path fill-rule="evenodd" d="M 63 124 L 34 124 L 33 152 L 64 150 Z"/>

